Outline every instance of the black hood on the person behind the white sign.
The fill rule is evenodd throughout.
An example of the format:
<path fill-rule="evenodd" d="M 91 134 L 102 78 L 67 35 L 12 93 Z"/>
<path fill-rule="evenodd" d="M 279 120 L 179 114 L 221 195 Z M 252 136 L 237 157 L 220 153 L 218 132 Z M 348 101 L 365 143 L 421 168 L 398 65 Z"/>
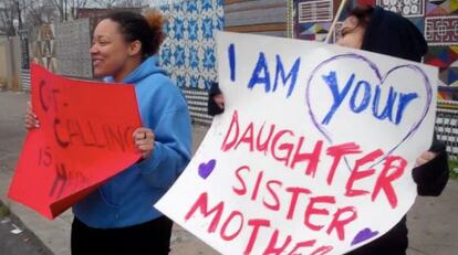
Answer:
<path fill-rule="evenodd" d="M 428 44 L 409 20 L 375 7 L 361 49 L 420 62 L 428 51 Z"/>

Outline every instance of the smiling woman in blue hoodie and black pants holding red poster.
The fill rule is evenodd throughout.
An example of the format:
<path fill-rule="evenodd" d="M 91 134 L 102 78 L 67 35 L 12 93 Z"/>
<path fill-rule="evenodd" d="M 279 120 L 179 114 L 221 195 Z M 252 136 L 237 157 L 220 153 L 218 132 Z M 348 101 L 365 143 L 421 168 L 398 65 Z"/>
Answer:
<path fill-rule="evenodd" d="M 142 159 L 73 205 L 72 254 L 168 254 L 173 222 L 153 204 L 191 157 L 191 125 L 179 88 L 158 66 L 163 17 L 114 12 L 95 28 L 94 76 L 134 84 L 143 127 Z M 25 126 L 38 126 L 29 110 Z"/>

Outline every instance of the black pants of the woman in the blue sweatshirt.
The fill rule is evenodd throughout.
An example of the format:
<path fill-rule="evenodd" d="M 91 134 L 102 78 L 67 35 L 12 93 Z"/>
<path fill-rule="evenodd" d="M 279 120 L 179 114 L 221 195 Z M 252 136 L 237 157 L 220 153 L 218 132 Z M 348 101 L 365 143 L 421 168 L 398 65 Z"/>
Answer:
<path fill-rule="evenodd" d="M 171 225 L 168 217 L 162 216 L 134 226 L 101 230 L 74 217 L 72 255 L 167 255 L 170 252 Z"/>

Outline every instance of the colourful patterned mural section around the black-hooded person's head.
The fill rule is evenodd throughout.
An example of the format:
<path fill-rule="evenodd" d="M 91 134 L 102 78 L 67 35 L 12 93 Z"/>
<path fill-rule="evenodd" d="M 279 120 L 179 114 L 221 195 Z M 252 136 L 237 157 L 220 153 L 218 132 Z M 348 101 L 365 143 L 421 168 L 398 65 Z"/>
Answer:
<path fill-rule="evenodd" d="M 323 41 L 340 3 L 341 0 L 293 0 L 293 38 Z M 457 0 L 348 0 L 348 7 L 356 4 L 383 7 L 417 25 L 429 45 L 424 62 L 439 67 L 439 99 L 458 100 Z M 339 20 L 345 17 L 344 12 Z"/>

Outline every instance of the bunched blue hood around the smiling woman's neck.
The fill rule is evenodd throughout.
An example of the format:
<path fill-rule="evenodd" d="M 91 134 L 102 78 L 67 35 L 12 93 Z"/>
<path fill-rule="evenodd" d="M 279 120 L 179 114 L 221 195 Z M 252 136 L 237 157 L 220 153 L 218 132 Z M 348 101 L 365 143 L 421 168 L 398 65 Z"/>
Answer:
<path fill-rule="evenodd" d="M 160 73 L 167 75 L 167 72 L 158 66 L 159 57 L 154 55 L 146 59 L 137 68 L 129 73 L 126 77 L 123 78 L 122 83 L 136 84 L 138 81 L 144 79 L 145 77 Z M 105 82 L 113 83 L 113 76 L 107 76 L 104 78 Z"/>

